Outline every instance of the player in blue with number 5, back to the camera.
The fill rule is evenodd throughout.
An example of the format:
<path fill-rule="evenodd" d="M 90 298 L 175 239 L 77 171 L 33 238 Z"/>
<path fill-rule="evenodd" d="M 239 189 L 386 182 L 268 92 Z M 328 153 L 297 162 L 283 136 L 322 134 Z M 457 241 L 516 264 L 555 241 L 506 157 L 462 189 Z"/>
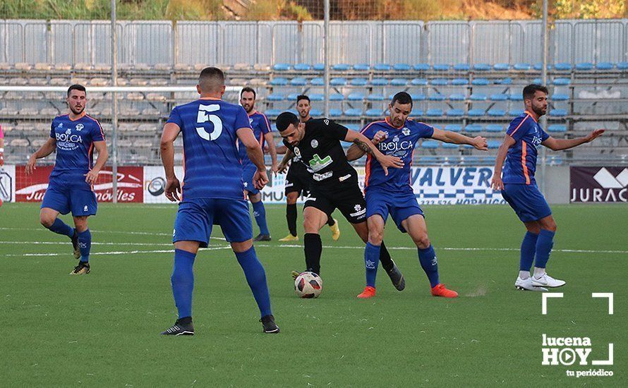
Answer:
<path fill-rule="evenodd" d="M 162 334 L 194 334 L 192 268 L 198 248 L 207 247 L 214 224 L 220 225 L 244 271 L 260 308 L 264 332 L 278 333 L 279 327 L 270 309 L 264 267 L 253 248 L 253 228 L 243 196 L 242 164 L 236 142 L 246 147 L 248 159 L 256 167 L 253 185 L 258 190 L 268 182 L 262 148 L 251 131 L 246 111 L 222 101 L 224 73 L 219 68 L 204 68 L 196 89 L 200 98 L 172 109 L 162 134 L 162 162 L 167 178 L 165 195 L 173 202 L 181 201 L 172 234 L 175 250 L 171 277 L 179 319 Z M 183 134 L 186 154 L 184 190 L 174 174 L 174 140 L 179 133 Z"/>

